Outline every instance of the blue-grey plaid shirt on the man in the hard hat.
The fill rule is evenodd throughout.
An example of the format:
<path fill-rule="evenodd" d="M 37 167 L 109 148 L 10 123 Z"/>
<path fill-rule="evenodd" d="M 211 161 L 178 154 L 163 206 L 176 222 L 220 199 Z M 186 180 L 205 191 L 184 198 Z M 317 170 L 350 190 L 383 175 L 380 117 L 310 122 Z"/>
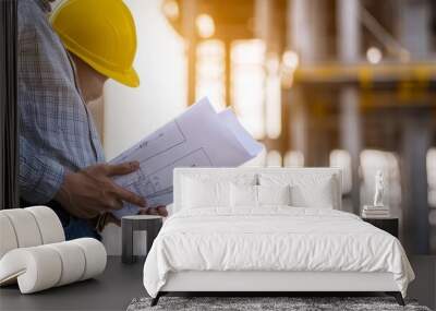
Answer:
<path fill-rule="evenodd" d="M 20 194 L 43 204 L 65 171 L 105 162 L 75 70 L 43 0 L 19 0 Z"/>

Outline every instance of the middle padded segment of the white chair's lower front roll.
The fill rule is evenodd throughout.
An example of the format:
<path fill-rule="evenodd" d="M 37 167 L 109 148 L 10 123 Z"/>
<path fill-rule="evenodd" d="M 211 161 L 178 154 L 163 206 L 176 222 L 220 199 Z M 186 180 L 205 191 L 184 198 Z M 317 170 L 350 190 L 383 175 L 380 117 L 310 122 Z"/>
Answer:
<path fill-rule="evenodd" d="M 81 247 L 72 241 L 47 244 L 56 250 L 62 260 L 62 274 L 56 286 L 74 283 L 82 279 L 85 273 L 85 254 Z"/>

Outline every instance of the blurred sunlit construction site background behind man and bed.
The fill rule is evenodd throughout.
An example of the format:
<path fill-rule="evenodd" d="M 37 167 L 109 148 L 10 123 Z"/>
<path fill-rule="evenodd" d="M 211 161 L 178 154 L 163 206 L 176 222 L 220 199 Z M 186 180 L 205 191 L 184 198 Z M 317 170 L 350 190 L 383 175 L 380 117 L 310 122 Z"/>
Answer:
<path fill-rule="evenodd" d="M 265 144 L 251 165 L 342 167 L 349 212 L 384 170 L 405 249 L 436 253 L 435 1 L 125 2 L 142 86 L 95 105 L 108 158 L 208 96 Z"/>

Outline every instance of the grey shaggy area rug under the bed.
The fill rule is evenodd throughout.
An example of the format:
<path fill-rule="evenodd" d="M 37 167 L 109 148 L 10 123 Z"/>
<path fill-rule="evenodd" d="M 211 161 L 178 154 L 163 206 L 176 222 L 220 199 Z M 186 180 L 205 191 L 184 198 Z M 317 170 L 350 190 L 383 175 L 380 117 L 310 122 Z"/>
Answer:
<path fill-rule="evenodd" d="M 161 297 L 159 303 L 150 307 L 150 298 L 133 299 L 128 311 L 159 310 L 291 310 L 291 311 L 324 311 L 324 310 L 410 310 L 431 311 L 419 306 L 414 300 L 405 300 L 401 307 L 391 297 Z"/>

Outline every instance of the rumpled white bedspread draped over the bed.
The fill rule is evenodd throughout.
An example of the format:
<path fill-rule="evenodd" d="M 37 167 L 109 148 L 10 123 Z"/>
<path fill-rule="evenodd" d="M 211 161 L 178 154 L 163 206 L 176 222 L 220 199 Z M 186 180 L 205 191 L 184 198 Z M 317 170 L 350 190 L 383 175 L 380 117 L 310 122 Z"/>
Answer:
<path fill-rule="evenodd" d="M 414 278 L 398 239 L 358 216 L 280 206 L 171 216 L 145 262 L 144 286 L 156 297 L 169 272 L 191 270 L 390 272 L 403 296 Z"/>

